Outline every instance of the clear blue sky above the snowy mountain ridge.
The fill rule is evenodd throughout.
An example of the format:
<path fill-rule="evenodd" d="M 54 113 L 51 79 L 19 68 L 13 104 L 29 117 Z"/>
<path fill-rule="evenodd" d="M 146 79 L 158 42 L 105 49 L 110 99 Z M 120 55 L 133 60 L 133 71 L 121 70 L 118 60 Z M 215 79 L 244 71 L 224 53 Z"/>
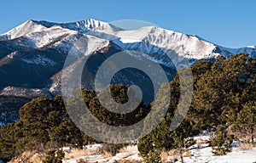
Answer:
<path fill-rule="evenodd" d="M 0 6 L 0 33 L 26 20 L 128 19 L 195 34 L 230 48 L 256 45 L 254 0 L 3 0 Z"/>

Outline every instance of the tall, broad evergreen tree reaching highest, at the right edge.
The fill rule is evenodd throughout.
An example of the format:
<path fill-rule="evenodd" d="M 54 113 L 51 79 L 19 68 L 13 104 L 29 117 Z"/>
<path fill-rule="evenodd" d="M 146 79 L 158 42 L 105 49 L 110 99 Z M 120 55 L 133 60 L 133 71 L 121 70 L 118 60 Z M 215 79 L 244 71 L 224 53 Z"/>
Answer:
<path fill-rule="evenodd" d="M 246 53 L 232 55 L 230 59 L 218 58 L 211 70 L 195 83 L 193 107 L 201 116 L 201 124 L 234 123 L 248 100 L 243 97 L 247 94 L 244 90 L 250 85 L 255 86 L 255 71 L 255 59 L 248 59 Z"/>

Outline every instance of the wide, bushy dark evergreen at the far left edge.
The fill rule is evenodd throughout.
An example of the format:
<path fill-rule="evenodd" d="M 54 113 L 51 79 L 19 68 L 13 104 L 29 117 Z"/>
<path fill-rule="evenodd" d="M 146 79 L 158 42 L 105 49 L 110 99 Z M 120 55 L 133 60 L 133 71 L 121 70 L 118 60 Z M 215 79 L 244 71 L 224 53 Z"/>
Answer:
<path fill-rule="evenodd" d="M 83 145 L 83 133 L 67 115 L 61 97 L 36 98 L 20 108 L 20 120 L 1 127 L 1 158 L 10 159 L 26 150 L 44 152 L 62 145 Z"/>

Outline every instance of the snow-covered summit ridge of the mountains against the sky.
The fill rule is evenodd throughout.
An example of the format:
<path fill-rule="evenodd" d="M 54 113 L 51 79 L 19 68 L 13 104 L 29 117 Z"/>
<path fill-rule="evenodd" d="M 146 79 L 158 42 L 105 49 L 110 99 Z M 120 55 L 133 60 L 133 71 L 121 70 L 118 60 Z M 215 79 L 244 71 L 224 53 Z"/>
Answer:
<path fill-rule="evenodd" d="M 72 23 L 28 20 L 0 35 L 0 41 L 26 37 L 36 45 L 35 48 L 43 48 L 54 43 L 54 47 L 65 48 L 68 51 L 78 35 L 88 37 L 88 47 L 91 47 L 91 50 L 104 48 L 102 46 L 107 46 L 108 41 L 111 40 L 123 49 L 139 50 L 151 54 L 172 50 L 179 57 L 187 59 L 212 59 L 219 55 L 229 58 L 234 53 L 249 53 L 256 56 L 255 46 L 224 48 L 196 35 L 187 35 L 156 26 L 125 31 L 112 24 L 93 19 Z M 91 43 L 93 45 L 90 45 Z M 91 50 L 89 53 L 92 53 Z"/>

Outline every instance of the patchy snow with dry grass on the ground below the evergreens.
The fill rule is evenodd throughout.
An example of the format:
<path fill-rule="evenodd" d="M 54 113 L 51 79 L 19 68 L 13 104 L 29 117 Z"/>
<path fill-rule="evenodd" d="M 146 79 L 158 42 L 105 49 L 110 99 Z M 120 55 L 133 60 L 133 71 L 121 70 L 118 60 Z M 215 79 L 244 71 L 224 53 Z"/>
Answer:
<path fill-rule="evenodd" d="M 209 146 L 209 143 L 206 143 L 210 140 L 208 133 L 202 133 L 194 137 L 196 144 L 188 148 L 191 152 L 191 156 L 184 156 L 185 163 L 253 163 L 256 161 L 256 148 L 242 150 L 239 148 L 239 142 L 234 142 L 232 144 L 233 150 L 228 155 L 215 156 L 212 155 L 212 148 Z M 93 144 L 86 145 L 84 149 L 87 149 L 90 154 L 78 158 L 73 158 L 70 160 L 63 160 L 63 163 L 77 163 L 79 160 L 84 160 L 86 162 L 108 162 L 112 163 L 115 160 L 143 160 L 139 155 L 137 145 L 129 145 L 125 149 L 122 149 L 121 152 L 115 156 L 108 157 L 97 153 L 102 144 Z M 168 160 L 173 160 L 173 158 L 179 158 L 179 156 L 168 156 Z M 177 160 L 177 163 L 180 163 L 180 160 Z"/>

